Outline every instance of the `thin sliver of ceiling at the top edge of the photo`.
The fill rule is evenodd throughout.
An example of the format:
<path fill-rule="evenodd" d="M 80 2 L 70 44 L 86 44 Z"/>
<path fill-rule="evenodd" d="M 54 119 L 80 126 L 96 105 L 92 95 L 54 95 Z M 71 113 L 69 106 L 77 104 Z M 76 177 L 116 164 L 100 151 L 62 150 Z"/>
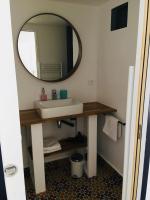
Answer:
<path fill-rule="evenodd" d="M 52 1 L 97 6 L 103 4 L 108 0 L 52 0 Z"/>

